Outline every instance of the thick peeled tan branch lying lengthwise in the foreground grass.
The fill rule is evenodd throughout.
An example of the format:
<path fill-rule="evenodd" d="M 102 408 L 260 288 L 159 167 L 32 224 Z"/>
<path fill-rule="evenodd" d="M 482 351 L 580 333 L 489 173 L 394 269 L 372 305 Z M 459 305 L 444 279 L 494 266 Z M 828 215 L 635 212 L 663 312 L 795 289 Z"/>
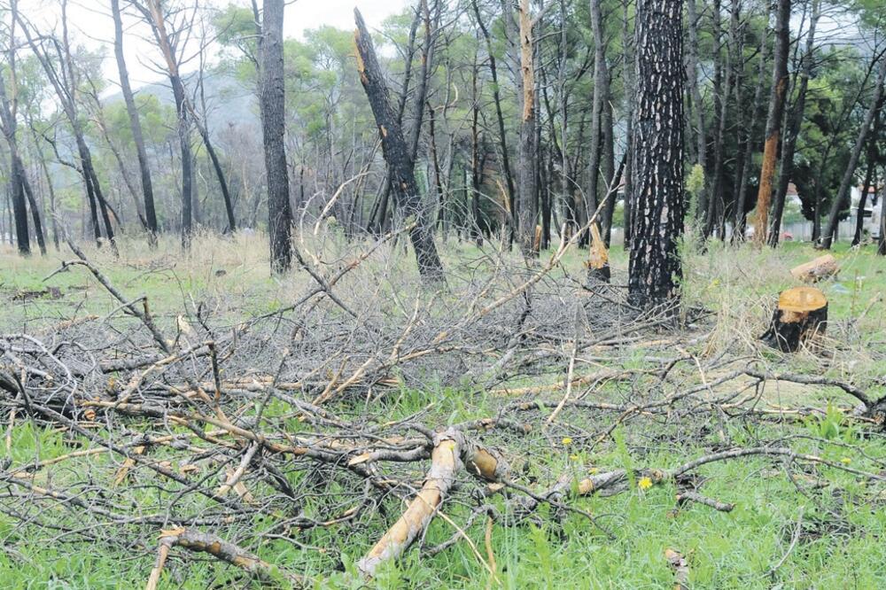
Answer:
<path fill-rule="evenodd" d="M 382 563 L 403 555 L 412 541 L 416 540 L 431 523 L 437 509 L 455 483 L 455 474 L 462 465 L 459 454 L 463 440 L 462 433 L 454 429 L 448 429 L 435 437 L 434 450 L 431 453 L 431 469 L 424 478 L 422 489 L 409 502 L 408 508 L 397 522 L 357 563 L 362 575 L 371 578 Z"/>

